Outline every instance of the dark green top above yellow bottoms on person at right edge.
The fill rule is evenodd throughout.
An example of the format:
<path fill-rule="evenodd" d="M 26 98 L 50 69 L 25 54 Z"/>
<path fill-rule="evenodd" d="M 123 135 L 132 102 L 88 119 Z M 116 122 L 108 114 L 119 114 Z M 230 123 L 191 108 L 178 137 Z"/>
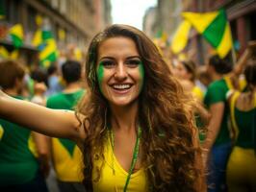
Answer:
<path fill-rule="evenodd" d="M 254 113 L 256 113 L 256 108 L 249 111 L 241 111 L 238 108 L 235 108 L 235 118 L 239 129 L 239 135 L 236 141 L 237 146 L 246 149 L 254 149 L 255 141 L 253 141 L 253 136 L 254 132 L 256 132 Z"/>

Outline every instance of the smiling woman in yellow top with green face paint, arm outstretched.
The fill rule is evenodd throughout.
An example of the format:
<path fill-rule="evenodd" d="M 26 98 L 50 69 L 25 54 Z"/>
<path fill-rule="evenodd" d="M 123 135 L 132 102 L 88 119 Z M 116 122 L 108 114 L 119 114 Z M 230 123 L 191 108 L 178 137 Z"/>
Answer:
<path fill-rule="evenodd" d="M 193 101 L 147 36 L 127 25 L 94 36 L 86 77 L 75 114 L 0 94 L 0 116 L 76 141 L 87 191 L 205 191 Z"/>

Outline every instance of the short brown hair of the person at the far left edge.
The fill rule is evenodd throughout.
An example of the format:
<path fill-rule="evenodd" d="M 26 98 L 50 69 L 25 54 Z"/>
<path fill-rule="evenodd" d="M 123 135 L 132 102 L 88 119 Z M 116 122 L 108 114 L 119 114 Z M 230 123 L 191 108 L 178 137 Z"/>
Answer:
<path fill-rule="evenodd" d="M 24 67 L 13 60 L 4 60 L 0 62 L 0 86 L 3 89 L 13 88 L 16 81 L 21 82 L 25 76 Z"/>

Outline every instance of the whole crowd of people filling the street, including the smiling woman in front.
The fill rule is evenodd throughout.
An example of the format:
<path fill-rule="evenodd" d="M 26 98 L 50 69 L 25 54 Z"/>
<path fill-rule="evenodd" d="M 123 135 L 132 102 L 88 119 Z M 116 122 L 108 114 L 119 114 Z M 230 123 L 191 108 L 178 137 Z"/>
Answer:
<path fill-rule="evenodd" d="M 255 49 L 167 63 L 115 24 L 85 66 L 0 61 L 0 191 L 256 191 Z"/>

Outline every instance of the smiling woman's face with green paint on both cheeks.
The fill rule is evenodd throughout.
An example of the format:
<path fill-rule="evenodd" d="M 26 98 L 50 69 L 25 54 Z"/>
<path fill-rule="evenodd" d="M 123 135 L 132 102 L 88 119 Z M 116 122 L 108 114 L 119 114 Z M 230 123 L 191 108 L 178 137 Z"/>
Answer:
<path fill-rule="evenodd" d="M 97 79 L 111 105 L 127 106 L 138 101 L 144 69 L 135 42 L 123 36 L 111 37 L 98 49 Z"/>

